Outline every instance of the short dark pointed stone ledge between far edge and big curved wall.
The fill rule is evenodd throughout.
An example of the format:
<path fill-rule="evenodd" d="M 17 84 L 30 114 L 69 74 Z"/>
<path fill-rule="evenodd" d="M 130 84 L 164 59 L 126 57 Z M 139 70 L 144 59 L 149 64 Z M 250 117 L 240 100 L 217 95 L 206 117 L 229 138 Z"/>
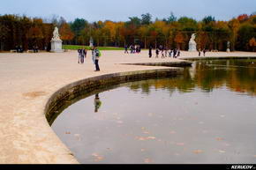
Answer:
<path fill-rule="evenodd" d="M 125 65 L 147 65 L 147 66 L 165 66 L 165 67 L 190 67 L 192 62 L 179 61 L 179 62 L 159 62 L 159 63 L 121 63 Z"/>

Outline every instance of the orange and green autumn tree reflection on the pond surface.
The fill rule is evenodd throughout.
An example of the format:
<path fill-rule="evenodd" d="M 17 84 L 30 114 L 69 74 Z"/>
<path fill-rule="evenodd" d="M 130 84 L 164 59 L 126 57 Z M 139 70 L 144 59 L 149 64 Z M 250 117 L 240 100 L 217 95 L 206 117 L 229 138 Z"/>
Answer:
<path fill-rule="evenodd" d="M 203 61 L 195 65 L 194 78 L 190 69 L 184 69 L 183 76 L 177 78 L 150 79 L 133 82 L 131 89 L 149 93 L 151 89 L 165 89 L 174 92 L 192 92 L 197 86 L 205 92 L 226 85 L 234 92 L 248 92 L 256 95 L 256 61 L 252 60 L 220 60 Z"/>

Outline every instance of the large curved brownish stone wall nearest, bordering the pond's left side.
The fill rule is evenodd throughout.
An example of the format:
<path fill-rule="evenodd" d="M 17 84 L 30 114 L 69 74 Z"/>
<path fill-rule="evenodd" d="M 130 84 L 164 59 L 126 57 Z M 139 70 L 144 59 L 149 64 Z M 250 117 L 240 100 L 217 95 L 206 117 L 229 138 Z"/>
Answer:
<path fill-rule="evenodd" d="M 148 78 L 170 78 L 181 74 L 183 74 L 183 69 L 169 68 L 119 72 L 82 79 L 72 84 L 65 85 L 52 94 L 46 104 L 44 113 L 49 125 L 51 125 L 56 119 L 57 115 L 61 113 L 60 110 L 63 110 L 67 105 L 66 101 L 75 99 L 81 92 L 92 94 L 92 92 L 103 89 L 106 86 L 119 85 L 126 82 Z"/>

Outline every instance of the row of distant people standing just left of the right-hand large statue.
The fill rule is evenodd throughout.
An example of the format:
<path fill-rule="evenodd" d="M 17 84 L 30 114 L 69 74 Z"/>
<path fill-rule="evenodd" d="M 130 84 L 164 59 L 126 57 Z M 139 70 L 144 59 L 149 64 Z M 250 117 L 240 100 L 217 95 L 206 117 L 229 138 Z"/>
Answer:
<path fill-rule="evenodd" d="M 152 57 L 152 50 L 153 48 L 152 47 L 149 47 L 149 58 Z M 156 48 L 155 49 L 155 58 L 158 58 L 159 57 L 159 54 L 162 54 L 162 58 L 165 58 L 165 57 L 172 57 L 173 58 L 177 58 L 178 56 L 180 56 L 180 49 L 177 49 L 177 48 L 174 48 L 173 50 L 172 49 L 169 49 L 169 48 L 164 48 L 162 45 L 159 46 L 159 48 Z"/>

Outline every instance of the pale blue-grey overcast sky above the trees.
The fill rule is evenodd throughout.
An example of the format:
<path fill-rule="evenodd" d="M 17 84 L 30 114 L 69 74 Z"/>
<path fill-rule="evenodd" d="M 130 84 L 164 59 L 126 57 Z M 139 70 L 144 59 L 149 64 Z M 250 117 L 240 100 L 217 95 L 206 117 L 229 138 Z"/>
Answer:
<path fill-rule="evenodd" d="M 154 18 L 167 18 L 170 11 L 177 17 L 201 20 L 212 15 L 216 20 L 230 20 L 239 14 L 256 11 L 256 0 L 0 0 L 0 14 L 25 14 L 28 17 L 62 16 L 67 21 L 110 19 L 127 21 L 151 13 Z"/>

